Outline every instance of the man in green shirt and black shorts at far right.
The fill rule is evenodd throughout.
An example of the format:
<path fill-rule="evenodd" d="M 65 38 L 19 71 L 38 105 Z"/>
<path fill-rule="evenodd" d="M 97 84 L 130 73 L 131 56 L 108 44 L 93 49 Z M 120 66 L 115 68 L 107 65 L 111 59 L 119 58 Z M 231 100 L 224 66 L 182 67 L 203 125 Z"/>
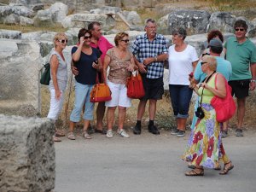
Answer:
<path fill-rule="evenodd" d="M 256 47 L 247 37 L 247 23 L 236 20 L 234 29 L 236 37 L 229 38 L 224 44 L 226 59 L 231 62 L 232 75 L 229 81 L 232 95 L 237 98 L 236 137 L 242 137 L 242 123 L 246 111 L 248 90 L 256 86 Z"/>

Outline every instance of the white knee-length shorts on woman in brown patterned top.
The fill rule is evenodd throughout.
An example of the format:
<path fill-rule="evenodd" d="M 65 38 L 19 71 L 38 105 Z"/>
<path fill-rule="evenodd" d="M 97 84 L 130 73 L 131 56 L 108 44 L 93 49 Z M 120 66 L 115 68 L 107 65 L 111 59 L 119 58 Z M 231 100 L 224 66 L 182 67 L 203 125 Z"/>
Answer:
<path fill-rule="evenodd" d="M 114 84 L 108 81 L 108 86 L 112 92 L 112 99 L 108 102 L 105 102 L 106 107 L 131 107 L 131 99 L 127 96 L 127 87 L 125 84 Z"/>

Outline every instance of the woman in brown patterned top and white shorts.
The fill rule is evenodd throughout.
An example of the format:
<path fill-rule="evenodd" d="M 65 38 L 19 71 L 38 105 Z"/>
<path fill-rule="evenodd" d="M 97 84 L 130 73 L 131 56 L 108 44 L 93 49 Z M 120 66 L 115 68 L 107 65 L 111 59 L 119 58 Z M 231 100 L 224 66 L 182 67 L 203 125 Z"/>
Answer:
<path fill-rule="evenodd" d="M 129 137 L 125 132 L 124 122 L 126 116 L 126 108 L 131 107 L 131 98 L 127 96 L 126 80 L 131 76 L 131 72 L 135 68 L 133 55 L 129 50 L 129 35 L 126 32 L 119 32 L 114 38 L 115 47 L 108 49 L 104 60 L 103 77 L 104 82 L 107 83 L 107 69 L 108 86 L 112 92 L 112 100 L 105 103 L 108 107 L 107 111 L 107 137 L 113 137 L 113 120 L 114 111 L 119 108 L 119 125 L 118 133 L 121 137 Z"/>

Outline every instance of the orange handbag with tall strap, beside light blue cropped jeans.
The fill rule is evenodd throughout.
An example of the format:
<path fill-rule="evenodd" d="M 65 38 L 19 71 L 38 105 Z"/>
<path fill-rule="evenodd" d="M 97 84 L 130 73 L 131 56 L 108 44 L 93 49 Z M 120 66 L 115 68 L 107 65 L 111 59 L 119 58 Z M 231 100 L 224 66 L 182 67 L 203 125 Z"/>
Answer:
<path fill-rule="evenodd" d="M 107 102 L 110 101 L 111 91 L 108 84 L 99 83 L 98 73 L 96 74 L 96 84 L 90 92 L 90 102 Z"/>

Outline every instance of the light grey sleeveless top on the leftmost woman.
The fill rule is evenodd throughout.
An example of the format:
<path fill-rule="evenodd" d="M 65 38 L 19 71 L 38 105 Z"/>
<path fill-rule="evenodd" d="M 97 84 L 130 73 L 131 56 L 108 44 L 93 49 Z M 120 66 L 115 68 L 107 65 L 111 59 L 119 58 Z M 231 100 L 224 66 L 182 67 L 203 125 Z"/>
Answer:
<path fill-rule="evenodd" d="M 60 90 L 66 90 L 67 86 L 67 62 L 64 61 L 61 55 L 54 50 L 51 51 L 49 58 L 51 59 L 52 55 L 57 55 L 59 66 L 57 68 L 57 83 Z M 50 61 L 49 59 L 49 61 Z M 51 64 L 51 63 L 50 63 Z M 50 72 L 50 81 L 49 81 L 49 89 L 55 89 L 55 86 L 52 81 L 51 72 Z"/>

